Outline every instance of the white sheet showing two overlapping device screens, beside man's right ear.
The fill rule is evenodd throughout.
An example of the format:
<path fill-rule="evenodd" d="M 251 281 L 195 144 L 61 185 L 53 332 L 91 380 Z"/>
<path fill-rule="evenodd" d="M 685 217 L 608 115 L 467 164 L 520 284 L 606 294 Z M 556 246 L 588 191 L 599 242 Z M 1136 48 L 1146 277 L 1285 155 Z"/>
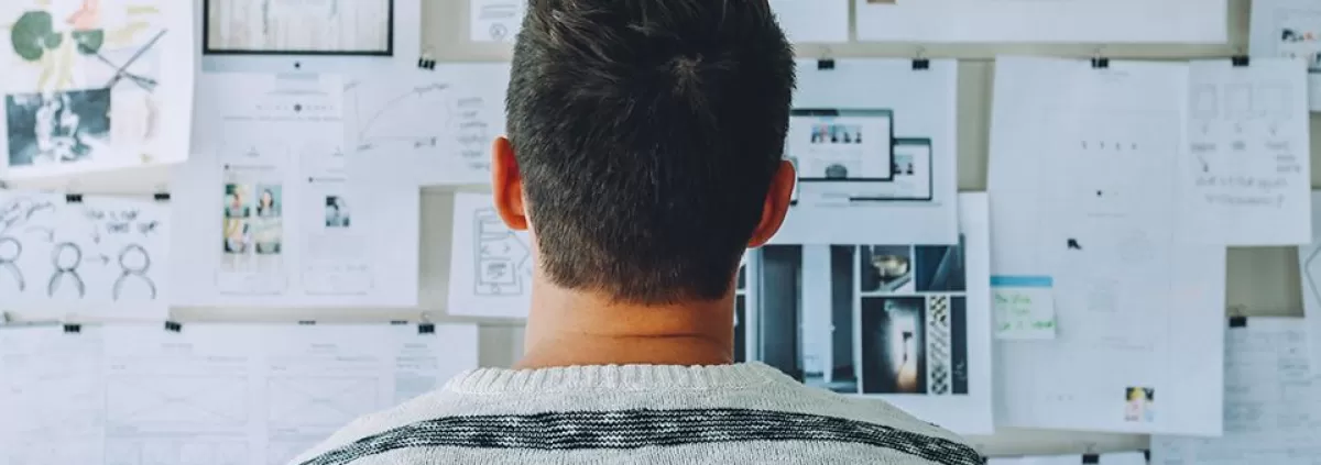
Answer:
<path fill-rule="evenodd" d="M 958 65 L 798 62 L 785 156 L 795 202 L 775 244 L 958 242 Z M 884 85 L 880 85 L 884 83 Z"/>

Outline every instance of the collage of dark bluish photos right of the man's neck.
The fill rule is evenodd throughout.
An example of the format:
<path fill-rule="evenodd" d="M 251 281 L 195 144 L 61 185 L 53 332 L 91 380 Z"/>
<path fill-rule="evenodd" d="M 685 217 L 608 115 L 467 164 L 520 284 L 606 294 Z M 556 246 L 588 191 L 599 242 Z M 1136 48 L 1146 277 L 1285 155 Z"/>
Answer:
<path fill-rule="evenodd" d="M 766 246 L 748 262 L 736 291 L 737 359 L 840 394 L 968 394 L 962 238 Z"/>

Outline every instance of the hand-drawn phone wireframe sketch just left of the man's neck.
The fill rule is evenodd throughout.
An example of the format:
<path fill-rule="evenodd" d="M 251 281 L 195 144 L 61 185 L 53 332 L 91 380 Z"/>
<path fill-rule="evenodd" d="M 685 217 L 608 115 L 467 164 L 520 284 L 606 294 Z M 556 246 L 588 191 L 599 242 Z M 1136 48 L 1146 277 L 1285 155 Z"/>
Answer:
<path fill-rule="evenodd" d="M 523 238 L 505 227 L 493 209 L 473 213 L 473 234 L 477 238 L 476 289 L 478 296 L 514 296 L 527 292 L 531 284 L 531 250 Z"/>

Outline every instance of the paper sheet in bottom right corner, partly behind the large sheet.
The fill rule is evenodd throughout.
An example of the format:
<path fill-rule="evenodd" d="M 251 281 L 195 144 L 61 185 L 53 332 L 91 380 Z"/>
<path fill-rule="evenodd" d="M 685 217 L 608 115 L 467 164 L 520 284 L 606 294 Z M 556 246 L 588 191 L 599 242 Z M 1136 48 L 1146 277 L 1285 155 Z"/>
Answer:
<path fill-rule="evenodd" d="M 1250 317 L 1226 333 L 1225 436 L 1152 436 L 1152 465 L 1310 465 L 1321 457 L 1321 382 L 1303 318 Z"/>

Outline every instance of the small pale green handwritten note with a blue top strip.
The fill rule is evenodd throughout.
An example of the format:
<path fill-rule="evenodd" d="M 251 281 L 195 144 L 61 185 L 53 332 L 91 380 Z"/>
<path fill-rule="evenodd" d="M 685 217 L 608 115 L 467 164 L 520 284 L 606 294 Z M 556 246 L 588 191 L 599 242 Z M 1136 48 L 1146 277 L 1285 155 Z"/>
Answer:
<path fill-rule="evenodd" d="M 1054 340 L 1055 304 L 1049 276 L 992 276 L 995 336 L 999 340 Z"/>

